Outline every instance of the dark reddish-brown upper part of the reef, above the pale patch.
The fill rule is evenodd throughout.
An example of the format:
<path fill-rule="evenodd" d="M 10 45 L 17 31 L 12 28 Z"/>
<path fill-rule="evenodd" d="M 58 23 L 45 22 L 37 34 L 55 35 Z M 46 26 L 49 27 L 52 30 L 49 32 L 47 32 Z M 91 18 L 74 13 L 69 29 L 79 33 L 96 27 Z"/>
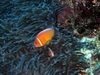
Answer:
<path fill-rule="evenodd" d="M 73 32 L 78 38 L 94 37 L 100 28 L 100 1 L 98 0 L 59 0 L 62 11 L 58 15 L 58 25 Z"/>

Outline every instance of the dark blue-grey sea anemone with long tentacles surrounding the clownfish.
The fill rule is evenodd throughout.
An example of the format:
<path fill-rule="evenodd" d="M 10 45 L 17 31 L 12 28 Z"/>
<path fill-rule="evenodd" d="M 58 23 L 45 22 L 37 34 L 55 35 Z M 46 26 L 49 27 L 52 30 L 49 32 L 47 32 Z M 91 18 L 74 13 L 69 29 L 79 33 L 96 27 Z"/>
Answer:
<path fill-rule="evenodd" d="M 64 27 L 57 27 L 57 10 L 62 5 L 54 0 L 4 0 L 0 3 L 0 74 L 79 75 L 89 67 L 84 54 L 77 52 L 80 43 Z M 33 41 L 41 30 L 55 28 L 48 46 L 35 48 Z M 55 56 L 49 57 L 50 47 Z"/>

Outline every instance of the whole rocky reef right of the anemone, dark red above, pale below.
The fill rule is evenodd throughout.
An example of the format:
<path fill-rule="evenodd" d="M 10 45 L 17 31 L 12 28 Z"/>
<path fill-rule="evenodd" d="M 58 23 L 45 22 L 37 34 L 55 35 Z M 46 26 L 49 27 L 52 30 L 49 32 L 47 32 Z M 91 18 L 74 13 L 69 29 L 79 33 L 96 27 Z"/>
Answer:
<path fill-rule="evenodd" d="M 80 42 L 90 43 L 81 49 L 90 68 L 86 75 L 99 75 L 100 54 L 100 1 L 99 0 L 59 0 L 63 7 L 58 15 L 58 26 L 70 30 Z M 80 52 L 80 51 L 79 51 Z"/>

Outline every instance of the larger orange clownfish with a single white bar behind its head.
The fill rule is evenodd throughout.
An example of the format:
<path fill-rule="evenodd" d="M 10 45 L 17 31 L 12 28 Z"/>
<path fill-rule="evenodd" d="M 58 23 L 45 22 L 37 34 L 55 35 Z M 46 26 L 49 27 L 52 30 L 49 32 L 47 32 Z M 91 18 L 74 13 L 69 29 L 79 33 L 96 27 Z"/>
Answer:
<path fill-rule="evenodd" d="M 35 47 L 42 47 L 46 44 L 49 44 L 49 42 L 52 40 L 52 37 L 54 36 L 54 29 L 53 28 L 47 28 L 43 31 L 39 32 L 34 40 L 34 46 Z"/>

